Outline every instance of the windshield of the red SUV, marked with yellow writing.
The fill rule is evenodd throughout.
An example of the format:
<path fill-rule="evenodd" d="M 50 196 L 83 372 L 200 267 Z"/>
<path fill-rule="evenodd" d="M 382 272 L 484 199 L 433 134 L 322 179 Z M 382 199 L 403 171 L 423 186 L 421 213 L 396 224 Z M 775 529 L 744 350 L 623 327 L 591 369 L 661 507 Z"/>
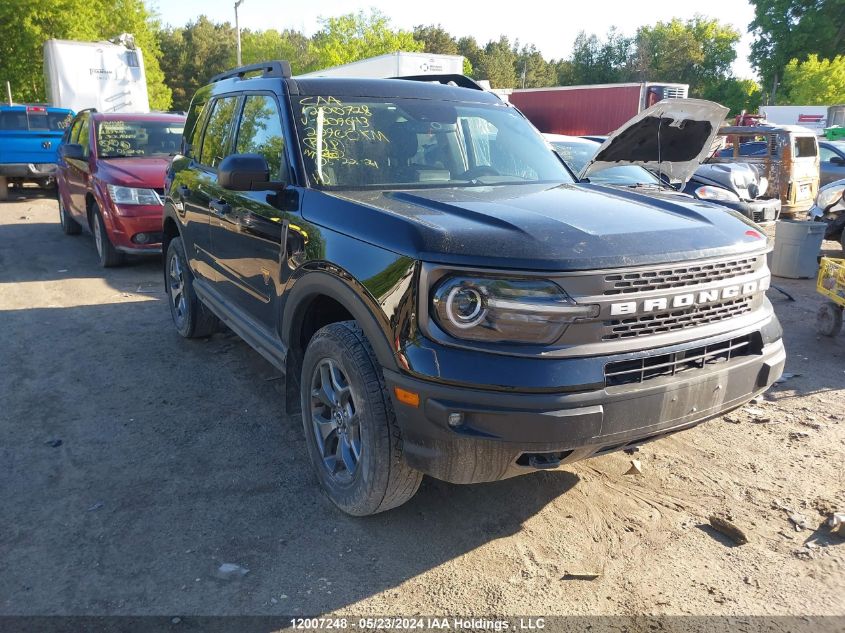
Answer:
<path fill-rule="evenodd" d="M 100 121 L 97 153 L 100 158 L 169 156 L 179 151 L 181 121 Z"/>

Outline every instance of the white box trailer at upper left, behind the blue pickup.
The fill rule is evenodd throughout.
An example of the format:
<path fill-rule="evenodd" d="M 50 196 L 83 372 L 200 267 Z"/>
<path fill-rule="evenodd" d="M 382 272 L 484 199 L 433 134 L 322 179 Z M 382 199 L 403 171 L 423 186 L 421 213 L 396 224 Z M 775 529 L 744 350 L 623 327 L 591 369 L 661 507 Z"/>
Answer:
<path fill-rule="evenodd" d="M 111 42 L 47 40 L 44 43 L 47 98 L 75 112 L 149 112 L 141 50 Z"/>

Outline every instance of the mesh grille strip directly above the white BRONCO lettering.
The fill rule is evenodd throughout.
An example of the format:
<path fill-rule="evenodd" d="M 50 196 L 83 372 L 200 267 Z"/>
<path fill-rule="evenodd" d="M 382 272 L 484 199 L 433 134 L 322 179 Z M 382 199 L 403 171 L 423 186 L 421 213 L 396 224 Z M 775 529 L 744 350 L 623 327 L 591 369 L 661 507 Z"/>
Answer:
<path fill-rule="evenodd" d="M 606 295 L 698 286 L 754 272 L 757 257 L 605 275 Z"/>

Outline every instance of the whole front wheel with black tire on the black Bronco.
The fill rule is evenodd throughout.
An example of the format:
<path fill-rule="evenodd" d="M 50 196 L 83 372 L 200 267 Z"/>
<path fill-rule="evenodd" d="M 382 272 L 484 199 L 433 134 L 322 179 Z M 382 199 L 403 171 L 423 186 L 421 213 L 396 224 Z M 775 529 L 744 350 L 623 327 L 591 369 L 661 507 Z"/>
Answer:
<path fill-rule="evenodd" d="M 326 383 L 334 398 L 323 388 Z M 381 368 L 357 323 L 332 323 L 311 339 L 300 400 L 308 455 L 332 503 L 347 514 L 366 516 L 414 496 L 422 473 L 405 462 Z M 318 436 L 320 429 L 324 433 Z"/>

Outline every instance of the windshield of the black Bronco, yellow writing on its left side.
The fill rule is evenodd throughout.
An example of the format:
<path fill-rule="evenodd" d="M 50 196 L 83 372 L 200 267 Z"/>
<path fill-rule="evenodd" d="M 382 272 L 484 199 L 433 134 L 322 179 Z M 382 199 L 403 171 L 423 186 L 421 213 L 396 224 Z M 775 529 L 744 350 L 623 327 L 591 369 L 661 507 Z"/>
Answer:
<path fill-rule="evenodd" d="M 318 187 L 572 182 L 536 130 L 504 105 L 309 96 L 294 107 Z"/>

